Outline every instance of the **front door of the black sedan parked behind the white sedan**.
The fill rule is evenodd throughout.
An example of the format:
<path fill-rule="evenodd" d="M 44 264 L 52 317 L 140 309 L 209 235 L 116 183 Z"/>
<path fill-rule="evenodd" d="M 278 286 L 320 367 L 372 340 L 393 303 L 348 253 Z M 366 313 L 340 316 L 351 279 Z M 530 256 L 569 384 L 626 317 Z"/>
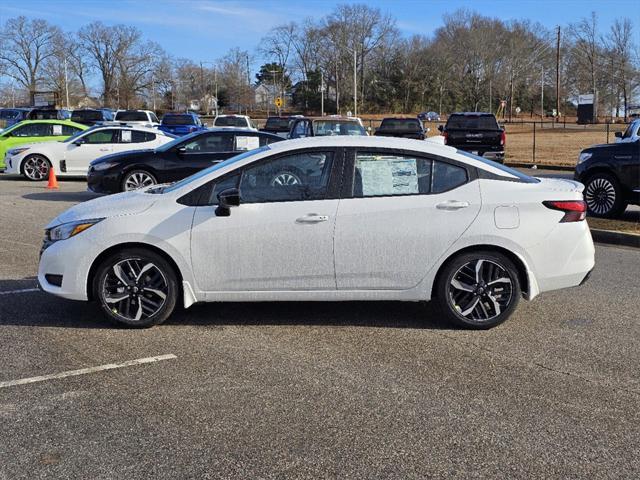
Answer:
<path fill-rule="evenodd" d="M 168 178 L 184 178 L 234 155 L 232 132 L 211 132 L 177 145 L 164 155 Z"/>

